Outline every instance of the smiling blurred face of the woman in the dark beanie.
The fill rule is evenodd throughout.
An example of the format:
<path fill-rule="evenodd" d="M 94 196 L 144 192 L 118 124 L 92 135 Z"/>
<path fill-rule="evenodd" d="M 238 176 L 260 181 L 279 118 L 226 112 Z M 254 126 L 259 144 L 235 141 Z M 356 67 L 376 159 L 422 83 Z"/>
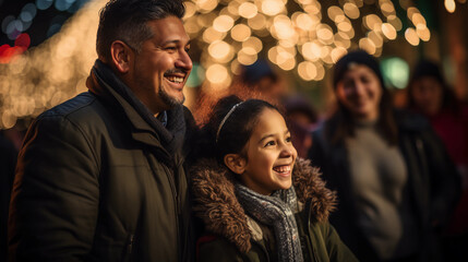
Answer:
<path fill-rule="evenodd" d="M 356 118 L 375 120 L 382 98 L 379 76 L 367 66 L 357 64 L 336 86 L 336 96 Z"/>

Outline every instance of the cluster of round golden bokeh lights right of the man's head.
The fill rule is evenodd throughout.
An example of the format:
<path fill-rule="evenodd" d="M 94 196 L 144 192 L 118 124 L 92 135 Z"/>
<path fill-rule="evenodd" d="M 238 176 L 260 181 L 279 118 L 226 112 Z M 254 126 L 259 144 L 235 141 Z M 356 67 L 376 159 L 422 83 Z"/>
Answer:
<path fill-rule="evenodd" d="M 206 80 L 219 88 L 228 86 L 230 74 L 239 71 L 236 67 L 265 56 L 285 71 L 295 70 L 304 81 L 321 81 L 322 72 L 349 48 L 381 56 L 384 43 L 397 39 L 404 29 L 401 19 L 411 23 L 401 32 L 410 45 L 431 38 L 424 16 L 410 0 L 398 1 L 408 16 L 401 19 L 392 0 L 352 0 L 327 8 L 317 0 L 295 2 L 299 8 L 288 10 L 291 4 L 287 5 L 287 0 L 187 1 L 185 26 L 191 38 L 206 50 L 201 55 L 201 66 L 208 69 Z M 379 11 L 365 13 L 363 8 L 370 4 Z M 363 36 L 355 32 L 353 21 L 362 23 L 367 31 Z"/>

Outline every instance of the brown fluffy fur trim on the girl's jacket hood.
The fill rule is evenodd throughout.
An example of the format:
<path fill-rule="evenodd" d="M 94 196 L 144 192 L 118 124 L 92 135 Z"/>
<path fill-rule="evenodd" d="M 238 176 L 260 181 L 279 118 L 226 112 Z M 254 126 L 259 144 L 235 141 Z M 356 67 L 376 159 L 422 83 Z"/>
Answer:
<path fill-rule="evenodd" d="M 325 188 L 319 169 L 310 160 L 297 158 L 292 171 L 292 184 L 298 200 L 311 201 L 311 214 L 325 222 L 335 209 L 336 194 Z M 228 168 L 215 159 L 201 159 L 191 168 L 195 215 L 207 230 L 226 237 L 241 252 L 251 248 L 252 233 L 249 218 L 236 198 L 235 178 Z"/>

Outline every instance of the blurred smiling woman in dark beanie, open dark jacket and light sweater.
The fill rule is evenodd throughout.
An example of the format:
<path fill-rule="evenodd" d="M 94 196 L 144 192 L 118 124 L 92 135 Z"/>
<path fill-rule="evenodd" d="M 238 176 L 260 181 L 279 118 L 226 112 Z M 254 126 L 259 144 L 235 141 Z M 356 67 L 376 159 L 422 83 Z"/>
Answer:
<path fill-rule="evenodd" d="M 441 260 L 435 231 L 458 198 L 442 142 L 425 119 L 392 108 L 365 51 L 344 56 L 333 84 L 338 109 L 309 152 L 338 192 L 332 225 L 361 261 Z"/>

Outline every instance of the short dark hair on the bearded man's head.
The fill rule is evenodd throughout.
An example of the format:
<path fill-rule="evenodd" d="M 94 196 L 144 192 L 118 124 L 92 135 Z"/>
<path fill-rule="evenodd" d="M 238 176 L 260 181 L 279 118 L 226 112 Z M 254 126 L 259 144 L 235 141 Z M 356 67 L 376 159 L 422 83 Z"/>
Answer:
<path fill-rule="evenodd" d="M 99 12 L 96 51 L 101 60 L 110 59 L 110 45 L 121 40 L 140 52 L 143 41 L 153 37 L 148 21 L 167 16 L 183 17 L 181 0 L 110 0 Z"/>

